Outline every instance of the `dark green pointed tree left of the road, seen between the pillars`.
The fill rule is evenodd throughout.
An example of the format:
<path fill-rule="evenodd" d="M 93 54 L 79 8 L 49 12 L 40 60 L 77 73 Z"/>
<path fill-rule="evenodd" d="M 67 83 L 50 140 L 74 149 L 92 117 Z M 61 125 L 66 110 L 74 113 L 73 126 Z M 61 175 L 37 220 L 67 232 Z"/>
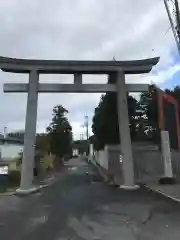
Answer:
<path fill-rule="evenodd" d="M 66 117 L 67 113 L 63 106 L 55 106 L 52 122 L 47 127 L 50 151 L 58 157 L 72 154 L 72 127 Z"/>

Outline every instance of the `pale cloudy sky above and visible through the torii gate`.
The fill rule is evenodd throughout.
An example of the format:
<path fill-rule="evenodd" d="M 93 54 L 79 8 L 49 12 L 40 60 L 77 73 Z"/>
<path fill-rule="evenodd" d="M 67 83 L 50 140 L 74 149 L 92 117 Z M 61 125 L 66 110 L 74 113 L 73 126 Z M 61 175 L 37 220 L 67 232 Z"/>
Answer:
<path fill-rule="evenodd" d="M 127 82 L 156 82 L 172 87 L 180 63 L 163 0 L 6 0 L 0 1 L 0 55 L 66 60 L 142 59 L 160 56 L 148 75 L 128 76 Z M 0 72 L 0 132 L 23 129 L 26 94 L 5 94 L 3 84 L 27 82 L 28 76 Z M 87 81 L 106 77 L 86 76 Z M 71 82 L 72 76 L 41 76 L 40 82 Z M 99 94 L 41 94 L 37 131 L 51 120 L 52 108 L 62 104 L 75 137 L 83 132 L 85 113 L 91 124 Z"/>

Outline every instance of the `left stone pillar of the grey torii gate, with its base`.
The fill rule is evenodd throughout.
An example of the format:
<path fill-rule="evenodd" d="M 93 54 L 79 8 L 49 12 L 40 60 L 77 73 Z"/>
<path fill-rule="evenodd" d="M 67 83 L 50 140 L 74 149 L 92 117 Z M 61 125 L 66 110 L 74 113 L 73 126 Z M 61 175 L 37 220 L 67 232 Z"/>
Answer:
<path fill-rule="evenodd" d="M 27 194 L 37 190 L 33 186 L 34 179 L 34 156 L 35 156 L 35 141 L 36 141 L 36 121 L 38 107 L 38 85 L 39 73 L 36 70 L 31 70 L 29 73 L 28 97 L 26 109 L 26 123 L 24 135 L 24 152 L 21 169 L 21 184 L 17 193 Z"/>

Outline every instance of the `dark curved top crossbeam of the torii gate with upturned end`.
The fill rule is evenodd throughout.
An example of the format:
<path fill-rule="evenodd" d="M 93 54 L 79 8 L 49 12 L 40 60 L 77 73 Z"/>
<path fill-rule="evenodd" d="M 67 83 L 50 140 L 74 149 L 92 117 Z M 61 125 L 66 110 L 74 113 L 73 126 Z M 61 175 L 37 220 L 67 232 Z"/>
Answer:
<path fill-rule="evenodd" d="M 125 74 L 141 74 L 150 72 L 158 61 L 158 57 L 134 61 L 29 60 L 0 57 L 0 69 L 13 73 L 36 70 L 43 74 L 109 74 L 121 69 Z"/>

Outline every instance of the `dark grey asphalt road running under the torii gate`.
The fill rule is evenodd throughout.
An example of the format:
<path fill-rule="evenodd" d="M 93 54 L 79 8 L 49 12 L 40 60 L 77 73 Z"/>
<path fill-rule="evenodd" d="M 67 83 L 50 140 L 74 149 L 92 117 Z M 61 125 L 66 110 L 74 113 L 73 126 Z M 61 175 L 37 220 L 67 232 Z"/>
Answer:
<path fill-rule="evenodd" d="M 40 193 L 0 197 L 0 239 L 179 240 L 180 205 L 147 189 L 107 186 L 72 159 Z"/>

